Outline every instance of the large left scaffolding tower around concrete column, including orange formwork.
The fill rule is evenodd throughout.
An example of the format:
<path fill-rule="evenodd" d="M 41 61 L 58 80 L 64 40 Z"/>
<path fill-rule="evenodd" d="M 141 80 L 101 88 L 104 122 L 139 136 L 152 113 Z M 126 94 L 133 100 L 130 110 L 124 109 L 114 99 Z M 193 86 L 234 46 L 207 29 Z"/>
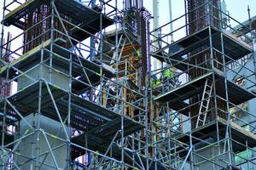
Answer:
<path fill-rule="evenodd" d="M 3 1 L 2 169 L 148 168 L 149 19 L 140 1 Z"/>

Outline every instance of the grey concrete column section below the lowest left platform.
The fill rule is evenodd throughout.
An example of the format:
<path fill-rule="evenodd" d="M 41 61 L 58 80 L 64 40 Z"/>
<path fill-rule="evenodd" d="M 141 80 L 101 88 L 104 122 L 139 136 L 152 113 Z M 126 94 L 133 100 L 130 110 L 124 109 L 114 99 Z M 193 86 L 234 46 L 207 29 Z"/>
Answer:
<path fill-rule="evenodd" d="M 26 121 L 31 124 L 36 123 L 38 119 L 40 128 L 44 129 L 45 133 L 52 134 L 51 136 L 47 136 L 47 139 L 49 140 L 50 147 L 53 150 L 53 154 L 59 169 L 67 169 L 67 143 L 55 138 L 59 137 L 61 139 L 66 139 L 66 135 L 61 127 L 61 123 L 56 122 L 46 116 L 26 116 Z M 22 134 L 28 133 L 28 130 L 29 127 L 26 122 L 20 121 L 20 135 L 17 134 L 15 139 L 20 139 Z M 15 156 L 14 161 L 17 165 L 20 165 L 20 169 L 22 170 L 56 169 L 53 156 L 49 152 L 49 146 L 43 133 L 34 133 L 25 139 L 21 139 L 16 151 L 20 153 L 20 156 Z M 39 156 L 38 160 L 40 162 L 38 163 L 37 159 L 32 160 L 32 158 L 35 158 L 36 156 Z"/>

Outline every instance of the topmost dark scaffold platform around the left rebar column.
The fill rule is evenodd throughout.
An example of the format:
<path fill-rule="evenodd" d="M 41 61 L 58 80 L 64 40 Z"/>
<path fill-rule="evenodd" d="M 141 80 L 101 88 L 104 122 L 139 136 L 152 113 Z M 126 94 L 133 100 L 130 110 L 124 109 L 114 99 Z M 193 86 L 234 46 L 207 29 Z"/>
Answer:
<path fill-rule="evenodd" d="M 31 14 L 35 8 L 40 7 L 42 4 L 50 5 L 50 2 L 50 0 L 28 0 L 9 12 L 9 14 L 6 14 L 3 24 L 5 26 L 13 25 L 21 30 L 25 30 L 25 23 L 21 19 L 26 14 Z M 79 1 L 55 0 L 55 7 L 61 14 L 65 14 L 68 18 L 72 19 L 72 24 L 76 27 L 72 29 L 70 36 L 78 41 L 82 41 L 100 31 L 101 22 L 102 29 L 113 25 L 113 20 L 107 15 L 102 14 L 96 9 L 89 8 L 83 3 L 79 3 Z"/>

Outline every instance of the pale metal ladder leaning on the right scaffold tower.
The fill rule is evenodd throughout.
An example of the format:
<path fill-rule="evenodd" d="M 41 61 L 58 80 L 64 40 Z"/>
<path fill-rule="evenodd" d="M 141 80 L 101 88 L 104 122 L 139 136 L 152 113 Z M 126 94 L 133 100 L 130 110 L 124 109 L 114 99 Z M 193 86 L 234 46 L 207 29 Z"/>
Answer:
<path fill-rule="evenodd" d="M 197 117 L 197 122 L 196 122 L 195 128 L 204 126 L 206 123 L 207 111 L 209 109 L 209 104 L 210 104 L 210 100 L 211 100 L 210 97 L 212 95 L 212 86 L 213 86 L 212 81 L 207 79 L 205 87 L 204 87 L 204 91 L 202 94 L 201 105 L 200 105 L 199 114 Z"/>

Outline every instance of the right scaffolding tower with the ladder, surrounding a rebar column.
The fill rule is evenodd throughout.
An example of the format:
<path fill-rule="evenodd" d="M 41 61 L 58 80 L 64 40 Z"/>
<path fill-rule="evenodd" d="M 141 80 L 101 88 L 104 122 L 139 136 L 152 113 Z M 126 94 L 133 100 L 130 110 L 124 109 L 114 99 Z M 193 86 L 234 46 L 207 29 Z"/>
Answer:
<path fill-rule="evenodd" d="M 166 169 L 253 168 L 255 115 L 244 105 L 255 98 L 255 70 L 246 65 L 255 58 L 255 28 L 223 13 L 218 0 L 184 2 L 185 14 L 150 32 L 151 55 L 162 62 L 151 72 L 159 80 L 152 86 L 152 154 Z M 166 32 L 170 25 L 176 29 Z"/>

